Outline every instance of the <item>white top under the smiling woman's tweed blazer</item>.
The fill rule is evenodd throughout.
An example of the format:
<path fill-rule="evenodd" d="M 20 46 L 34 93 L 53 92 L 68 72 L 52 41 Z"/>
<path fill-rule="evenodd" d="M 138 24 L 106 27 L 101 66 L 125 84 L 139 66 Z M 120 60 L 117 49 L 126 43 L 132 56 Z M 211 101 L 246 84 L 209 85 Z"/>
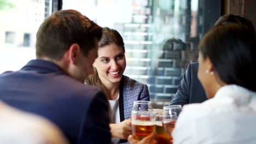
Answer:
<path fill-rule="evenodd" d="M 110 123 L 120 123 L 120 113 L 119 113 L 119 95 L 115 100 L 108 100 L 111 110 Z M 119 138 L 113 137 L 112 143 L 118 143 Z"/>

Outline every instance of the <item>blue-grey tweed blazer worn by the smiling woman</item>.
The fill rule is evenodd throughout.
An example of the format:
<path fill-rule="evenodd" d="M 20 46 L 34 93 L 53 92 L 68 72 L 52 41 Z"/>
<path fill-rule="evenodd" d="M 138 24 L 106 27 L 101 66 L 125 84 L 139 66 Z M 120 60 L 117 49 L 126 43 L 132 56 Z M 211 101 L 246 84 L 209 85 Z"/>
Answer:
<path fill-rule="evenodd" d="M 148 86 L 124 75 L 120 82 L 119 92 L 119 112 L 121 122 L 130 118 L 131 107 L 135 100 L 149 101 Z M 120 143 L 123 142 L 127 141 L 120 141 Z"/>

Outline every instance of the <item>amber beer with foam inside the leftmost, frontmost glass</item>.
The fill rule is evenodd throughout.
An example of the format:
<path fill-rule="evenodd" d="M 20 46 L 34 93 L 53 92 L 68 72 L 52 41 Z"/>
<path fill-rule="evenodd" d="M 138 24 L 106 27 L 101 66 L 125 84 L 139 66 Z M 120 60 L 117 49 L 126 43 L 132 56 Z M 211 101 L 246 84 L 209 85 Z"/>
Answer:
<path fill-rule="evenodd" d="M 142 140 L 154 131 L 154 122 L 132 121 L 132 135 L 136 140 Z"/>

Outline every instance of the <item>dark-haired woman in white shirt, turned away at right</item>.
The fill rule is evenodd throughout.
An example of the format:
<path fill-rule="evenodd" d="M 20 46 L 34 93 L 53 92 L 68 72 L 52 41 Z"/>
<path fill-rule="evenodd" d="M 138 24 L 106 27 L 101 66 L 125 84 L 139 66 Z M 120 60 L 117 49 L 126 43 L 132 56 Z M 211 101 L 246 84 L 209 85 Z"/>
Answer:
<path fill-rule="evenodd" d="M 241 25 L 206 33 L 197 75 L 209 100 L 183 107 L 174 143 L 256 143 L 255 54 L 255 34 Z"/>

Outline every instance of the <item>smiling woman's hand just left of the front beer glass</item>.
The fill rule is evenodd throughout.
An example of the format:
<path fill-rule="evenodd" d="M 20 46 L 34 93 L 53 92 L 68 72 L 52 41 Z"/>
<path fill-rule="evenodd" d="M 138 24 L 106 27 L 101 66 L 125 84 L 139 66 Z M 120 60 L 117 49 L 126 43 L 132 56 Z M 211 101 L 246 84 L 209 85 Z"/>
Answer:
<path fill-rule="evenodd" d="M 132 134 L 131 119 L 126 119 L 120 123 L 109 124 L 109 127 L 112 137 L 119 137 L 124 140 Z"/>

